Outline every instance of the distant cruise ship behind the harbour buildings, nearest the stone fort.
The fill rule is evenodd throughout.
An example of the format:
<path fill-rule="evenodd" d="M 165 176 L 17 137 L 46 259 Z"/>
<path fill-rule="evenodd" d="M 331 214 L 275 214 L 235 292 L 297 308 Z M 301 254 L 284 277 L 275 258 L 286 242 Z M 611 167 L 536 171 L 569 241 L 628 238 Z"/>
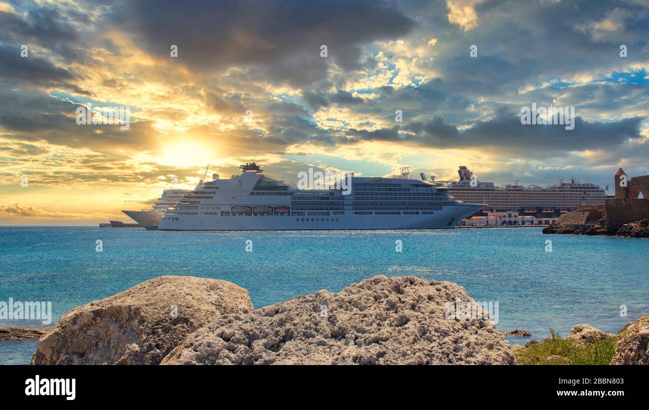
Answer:
<path fill-rule="evenodd" d="M 459 167 L 459 182 L 449 182 L 448 193 L 465 202 L 488 204 L 493 211 L 519 210 L 526 213 L 556 213 L 581 205 L 600 205 L 606 200 L 604 189 L 595 184 L 570 180 L 553 186 L 521 186 L 518 181 L 502 187 L 479 182 L 469 168 Z M 439 184 L 438 184 L 439 185 Z"/>

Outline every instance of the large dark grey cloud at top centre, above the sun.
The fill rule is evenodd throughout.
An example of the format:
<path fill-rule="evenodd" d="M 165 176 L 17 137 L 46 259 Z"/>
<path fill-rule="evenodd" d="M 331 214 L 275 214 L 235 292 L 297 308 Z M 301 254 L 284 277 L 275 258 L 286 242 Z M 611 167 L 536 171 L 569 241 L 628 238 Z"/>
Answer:
<path fill-rule="evenodd" d="M 407 34 L 415 25 L 387 1 L 225 0 L 129 1 L 136 42 L 157 56 L 178 45 L 180 64 L 199 71 L 256 67 L 271 80 L 309 84 L 326 76 L 328 58 L 358 69 L 358 45 Z"/>

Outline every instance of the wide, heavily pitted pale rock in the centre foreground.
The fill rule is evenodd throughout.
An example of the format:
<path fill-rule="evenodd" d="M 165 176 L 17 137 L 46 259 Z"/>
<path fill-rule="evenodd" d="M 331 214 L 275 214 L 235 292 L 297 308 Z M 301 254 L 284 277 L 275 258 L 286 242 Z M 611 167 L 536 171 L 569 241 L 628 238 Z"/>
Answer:
<path fill-rule="evenodd" d="M 472 302 L 454 283 L 375 276 L 220 317 L 162 364 L 513 364 L 493 324 L 445 318 L 456 298 Z"/>

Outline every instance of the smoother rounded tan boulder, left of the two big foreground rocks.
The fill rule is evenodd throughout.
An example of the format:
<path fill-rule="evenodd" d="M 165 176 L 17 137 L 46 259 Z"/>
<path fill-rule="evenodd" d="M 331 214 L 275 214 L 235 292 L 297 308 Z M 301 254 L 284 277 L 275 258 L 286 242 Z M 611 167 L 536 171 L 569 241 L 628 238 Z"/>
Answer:
<path fill-rule="evenodd" d="M 201 326 L 252 309 L 234 283 L 160 276 L 66 313 L 38 341 L 32 364 L 158 364 Z"/>

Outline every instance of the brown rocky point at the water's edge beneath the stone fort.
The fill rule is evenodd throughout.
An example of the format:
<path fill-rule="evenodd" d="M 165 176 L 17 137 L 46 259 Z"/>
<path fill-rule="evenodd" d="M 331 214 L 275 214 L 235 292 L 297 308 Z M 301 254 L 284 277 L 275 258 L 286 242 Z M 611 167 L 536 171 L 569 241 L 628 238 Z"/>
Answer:
<path fill-rule="evenodd" d="M 544 234 L 607 235 L 615 237 L 649 237 L 649 219 L 632 223 L 606 226 L 606 210 L 583 207 L 567 212 L 553 224 L 545 226 Z"/>

